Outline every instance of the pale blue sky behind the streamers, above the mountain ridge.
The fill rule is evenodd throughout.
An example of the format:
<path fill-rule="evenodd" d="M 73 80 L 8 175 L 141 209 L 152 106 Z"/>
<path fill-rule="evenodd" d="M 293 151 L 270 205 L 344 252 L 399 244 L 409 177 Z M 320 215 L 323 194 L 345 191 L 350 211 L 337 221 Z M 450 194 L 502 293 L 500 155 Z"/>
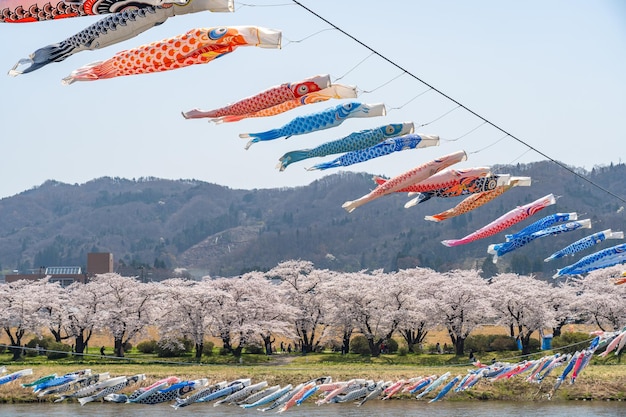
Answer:
<path fill-rule="evenodd" d="M 508 132 L 562 162 L 586 169 L 626 160 L 626 3 L 614 1 L 368 1 L 302 0 L 406 70 Z M 293 117 L 338 101 L 265 119 L 227 125 L 185 120 L 315 74 L 334 80 L 370 52 L 288 0 L 235 2 L 235 13 L 177 16 L 126 42 L 78 53 L 30 74 L 0 77 L 2 163 L 0 197 L 48 179 L 70 184 L 102 176 L 194 178 L 232 188 L 306 185 L 339 170 L 308 172 L 313 159 L 279 172 L 287 151 L 310 148 L 386 123 L 433 121 L 455 105 L 371 56 L 339 82 L 373 90 L 365 103 L 384 102 L 387 116 L 347 120 L 309 135 L 253 145 L 239 133 L 280 127 Z M 82 30 L 98 18 L 0 24 L 0 67 Z M 283 49 L 242 47 L 215 62 L 164 73 L 61 85 L 73 69 L 123 49 L 196 27 L 256 25 L 283 32 Z M 393 80 L 393 81 L 391 81 Z M 391 81 L 391 82 L 389 82 Z M 384 85 L 385 83 L 388 84 Z M 462 109 L 418 128 L 439 147 L 404 151 L 342 170 L 395 176 L 427 160 L 493 144 L 503 134 Z M 455 167 L 544 159 L 507 138 Z M 97 157 L 90 157 L 93 153 Z"/>

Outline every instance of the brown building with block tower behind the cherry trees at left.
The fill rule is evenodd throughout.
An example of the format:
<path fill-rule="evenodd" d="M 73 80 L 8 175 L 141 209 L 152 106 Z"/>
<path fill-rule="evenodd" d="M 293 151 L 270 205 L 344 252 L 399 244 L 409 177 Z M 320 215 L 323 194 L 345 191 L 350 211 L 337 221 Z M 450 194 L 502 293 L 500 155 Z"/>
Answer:
<path fill-rule="evenodd" d="M 74 282 L 85 283 L 90 277 L 113 271 L 112 253 L 88 253 L 86 270 L 83 270 L 80 266 L 42 266 L 30 274 L 7 274 L 5 276 L 5 282 L 15 282 L 20 279 L 36 280 L 49 277 L 50 282 L 59 282 L 62 287 L 67 287 Z"/>

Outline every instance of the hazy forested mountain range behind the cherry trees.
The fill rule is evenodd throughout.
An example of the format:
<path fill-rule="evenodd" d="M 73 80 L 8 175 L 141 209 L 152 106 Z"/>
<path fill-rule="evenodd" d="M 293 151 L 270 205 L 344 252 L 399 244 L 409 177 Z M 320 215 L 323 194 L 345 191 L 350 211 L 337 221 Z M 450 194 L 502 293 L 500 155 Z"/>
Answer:
<path fill-rule="evenodd" d="M 433 198 L 405 209 L 404 194 L 386 196 L 352 213 L 341 208 L 374 188 L 372 175 L 338 173 L 308 186 L 233 190 L 196 180 L 99 178 L 85 184 L 47 181 L 0 200 L 0 264 L 5 270 L 41 265 L 84 265 L 92 251 L 112 252 L 126 265 L 187 268 L 194 275 L 232 276 L 266 270 L 288 259 L 342 271 L 395 270 L 423 266 L 439 271 L 483 268 L 550 276 L 572 259 L 543 259 L 596 231 L 624 230 L 622 202 L 551 162 L 493 167 L 494 172 L 530 176 L 493 202 L 440 223 L 425 215 L 446 210 L 462 198 Z M 626 196 L 624 164 L 576 169 L 595 184 Z M 539 239 L 493 265 L 487 245 L 504 233 L 448 248 L 460 238 L 517 205 L 546 194 L 557 203 L 513 226 L 515 232 L 556 212 L 590 218 L 592 230 Z M 604 242 L 600 248 L 616 244 Z M 585 253 L 586 254 L 586 253 Z"/>

